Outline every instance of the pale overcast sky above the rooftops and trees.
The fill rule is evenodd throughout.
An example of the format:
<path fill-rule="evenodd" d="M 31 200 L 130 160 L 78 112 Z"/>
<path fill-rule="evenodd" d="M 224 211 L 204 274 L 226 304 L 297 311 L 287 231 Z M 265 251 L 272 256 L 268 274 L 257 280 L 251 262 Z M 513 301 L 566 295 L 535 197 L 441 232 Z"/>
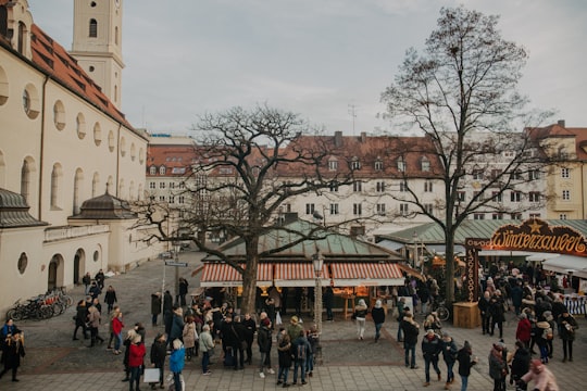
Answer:
<path fill-rule="evenodd" d="M 205 112 L 258 103 L 327 134 L 394 133 L 377 118 L 380 93 L 405 50 L 424 47 L 440 8 L 458 4 L 501 15 L 502 36 L 528 50 L 520 90 L 533 106 L 587 126 L 585 0 L 122 1 L 122 111 L 151 133 L 188 134 Z M 28 0 L 35 23 L 67 50 L 73 2 Z"/>

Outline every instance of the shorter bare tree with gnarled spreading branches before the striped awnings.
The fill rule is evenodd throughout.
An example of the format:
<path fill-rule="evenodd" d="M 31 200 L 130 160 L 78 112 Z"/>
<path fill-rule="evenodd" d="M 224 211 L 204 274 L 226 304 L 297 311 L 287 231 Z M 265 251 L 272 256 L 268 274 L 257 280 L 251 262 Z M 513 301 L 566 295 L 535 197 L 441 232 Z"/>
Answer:
<path fill-rule="evenodd" d="M 352 169 L 328 173 L 324 169 L 328 146 L 320 137 L 312 143 L 300 142 L 304 133 L 313 133 L 297 114 L 267 106 L 247 111 L 235 108 L 224 113 L 205 114 L 196 125 L 198 160 L 186 179 L 186 191 L 198 205 L 183 219 L 198 231 L 195 242 L 242 274 L 245 312 L 254 311 L 259 260 L 278 249 L 260 249 L 259 238 L 272 230 L 280 206 L 290 198 L 320 192 L 333 184 L 352 182 Z M 288 173 L 294 173 L 288 175 Z M 199 209 L 199 212 L 198 210 Z M 209 245 L 205 235 L 223 231 L 242 240 L 246 264 L 239 264 Z M 319 230 L 297 232 L 288 245 L 316 239 Z M 321 231 L 323 232 L 323 231 Z"/>

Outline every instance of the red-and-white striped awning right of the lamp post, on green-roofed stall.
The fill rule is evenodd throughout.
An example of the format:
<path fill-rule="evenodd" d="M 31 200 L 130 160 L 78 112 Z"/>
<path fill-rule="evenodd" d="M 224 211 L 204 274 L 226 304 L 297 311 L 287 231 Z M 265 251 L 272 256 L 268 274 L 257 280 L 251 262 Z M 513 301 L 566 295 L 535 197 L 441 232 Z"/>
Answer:
<path fill-rule="evenodd" d="M 394 263 L 344 262 L 330 264 L 337 287 L 402 286 L 403 275 Z"/>

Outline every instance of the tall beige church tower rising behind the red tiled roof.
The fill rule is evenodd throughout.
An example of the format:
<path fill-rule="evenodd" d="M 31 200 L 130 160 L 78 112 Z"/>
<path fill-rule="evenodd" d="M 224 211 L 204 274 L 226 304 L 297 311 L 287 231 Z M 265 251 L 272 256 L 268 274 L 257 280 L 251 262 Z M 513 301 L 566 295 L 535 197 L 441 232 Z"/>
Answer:
<path fill-rule="evenodd" d="M 74 0 L 71 54 L 121 109 L 123 0 Z"/>

